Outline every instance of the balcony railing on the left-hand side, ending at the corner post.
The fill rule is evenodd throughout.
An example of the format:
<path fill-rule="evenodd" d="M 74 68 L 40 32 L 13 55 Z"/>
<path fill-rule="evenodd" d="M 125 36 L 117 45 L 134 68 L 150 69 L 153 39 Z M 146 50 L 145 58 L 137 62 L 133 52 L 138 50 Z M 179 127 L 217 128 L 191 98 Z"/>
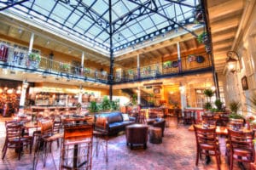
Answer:
<path fill-rule="evenodd" d="M 87 67 L 82 69 L 80 65 L 55 61 L 39 54 L 29 54 L 26 50 L 10 47 L 6 44 L 0 44 L 0 47 L 7 49 L 5 55 L 0 54 L 0 65 L 5 67 L 44 72 L 62 77 L 79 77 L 99 82 L 108 82 L 107 71 L 97 71 Z"/>

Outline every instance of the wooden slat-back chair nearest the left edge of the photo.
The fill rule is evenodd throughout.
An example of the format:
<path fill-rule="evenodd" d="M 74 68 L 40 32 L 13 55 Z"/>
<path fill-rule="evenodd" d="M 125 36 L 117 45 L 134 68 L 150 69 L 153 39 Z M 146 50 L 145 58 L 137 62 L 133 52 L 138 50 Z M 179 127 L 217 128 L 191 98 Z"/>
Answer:
<path fill-rule="evenodd" d="M 19 123 L 9 123 L 6 125 L 6 139 L 3 146 L 2 159 L 4 159 L 8 148 L 17 150 L 19 153 L 19 160 L 23 146 L 30 145 L 30 153 L 32 153 L 32 137 L 22 136 L 23 130 L 23 126 Z"/>

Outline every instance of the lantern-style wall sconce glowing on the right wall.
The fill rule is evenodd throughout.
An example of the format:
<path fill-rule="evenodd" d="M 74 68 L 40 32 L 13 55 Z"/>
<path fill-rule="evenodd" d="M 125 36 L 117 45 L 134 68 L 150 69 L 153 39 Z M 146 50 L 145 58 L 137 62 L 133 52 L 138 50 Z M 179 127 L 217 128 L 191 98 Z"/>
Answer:
<path fill-rule="evenodd" d="M 235 51 L 227 53 L 227 67 L 232 73 L 241 71 L 241 59 Z"/>

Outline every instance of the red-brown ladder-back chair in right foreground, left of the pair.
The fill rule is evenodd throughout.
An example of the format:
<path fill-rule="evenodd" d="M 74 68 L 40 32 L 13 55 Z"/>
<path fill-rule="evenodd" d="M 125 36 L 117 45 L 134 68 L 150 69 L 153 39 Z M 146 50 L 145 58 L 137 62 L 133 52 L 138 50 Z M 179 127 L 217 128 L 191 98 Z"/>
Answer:
<path fill-rule="evenodd" d="M 206 156 L 215 156 L 218 170 L 220 169 L 220 150 L 218 145 L 218 138 L 216 134 L 216 127 L 201 128 L 194 125 L 195 139 L 196 139 L 196 161 L 198 165 L 201 154 Z"/>

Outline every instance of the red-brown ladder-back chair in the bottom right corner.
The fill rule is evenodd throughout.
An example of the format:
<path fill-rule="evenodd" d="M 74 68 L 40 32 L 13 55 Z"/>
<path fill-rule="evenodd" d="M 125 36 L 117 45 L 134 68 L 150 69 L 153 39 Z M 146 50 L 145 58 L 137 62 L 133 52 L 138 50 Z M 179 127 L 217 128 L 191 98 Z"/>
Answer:
<path fill-rule="evenodd" d="M 227 145 L 227 156 L 230 170 L 233 169 L 233 161 L 253 162 L 255 159 L 254 131 L 233 131 L 228 129 L 229 145 Z"/>

